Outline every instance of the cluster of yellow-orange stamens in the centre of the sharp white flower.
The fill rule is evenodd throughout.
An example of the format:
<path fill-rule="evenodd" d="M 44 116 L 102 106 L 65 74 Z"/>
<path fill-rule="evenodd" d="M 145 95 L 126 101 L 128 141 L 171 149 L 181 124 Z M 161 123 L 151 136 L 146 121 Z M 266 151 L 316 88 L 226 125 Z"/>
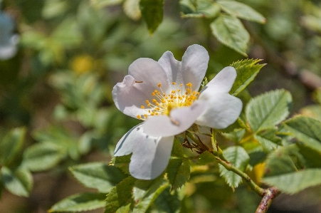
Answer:
<path fill-rule="evenodd" d="M 191 105 L 197 99 L 199 92 L 191 90 L 191 83 L 186 84 L 185 91 L 182 91 L 182 84 L 177 85 L 176 82 L 172 83 L 174 90 L 169 94 L 165 94 L 162 90 L 162 84 L 157 86 L 159 90 L 154 90 L 152 100 L 145 100 L 145 104 L 140 108 L 146 109 L 144 115 L 137 115 L 138 119 L 145 120 L 148 116 L 154 115 L 169 115 L 172 109 L 181 108 Z"/>

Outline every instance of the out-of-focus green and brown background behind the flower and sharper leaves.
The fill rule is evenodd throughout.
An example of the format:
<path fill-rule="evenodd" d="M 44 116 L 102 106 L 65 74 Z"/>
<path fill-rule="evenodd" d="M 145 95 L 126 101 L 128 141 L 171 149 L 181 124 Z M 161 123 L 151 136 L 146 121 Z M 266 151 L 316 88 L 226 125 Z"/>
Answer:
<path fill-rule="evenodd" d="M 321 107 L 315 104 L 320 100 L 313 98 L 321 86 L 321 2 L 241 2 L 267 20 L 264 25 L 243 21 L 251 34 L 248 58 L 267 63 L 250 85 L 249 94 L 285 88 L 293 95 L 293 115 L 321 119 Z M 137 58 L 157 61 L 162 53 L 172 51 L 181 61 L 186 48 L 198 43 L 209 51 L 209 79 L 245 58 L 214 38 L 210 19 L 181 19 L 178 0 L 164 3 L 164 20 L 149 35 L 144 21 L 122 4 L 97 7 L 89 0 L 2 1 L 1 12 L 13 17 L 20 42 L 13 58 L 0 60 L 0 137 L 12 128 L 25 127 L 26 152 L 19 151 L 11 162 L 13 168 L 43 144 L 52 146 L 55 155 L 52 165 L 29 162 L 33 172 L 30 197 L 17 197 L 3 189 L 0 212 L 46 212 L 64 197 L 88 191 L 67 168 L 81 162 L 109 162 L 120 137 L 139 123 L 120 113 L 111 96 L 112 87 Z M 233 193 L 221 177 L 214 178 L 211 182 L 195 180 L 187 187 L 191 196 L 183 200 L 186 209 L 182 212 L 255 211 L 260 200 L 256 194 L 245 186 Z M 321 212 L 320 197 L 318 188 L 280 195 L 270 212 Z"/>

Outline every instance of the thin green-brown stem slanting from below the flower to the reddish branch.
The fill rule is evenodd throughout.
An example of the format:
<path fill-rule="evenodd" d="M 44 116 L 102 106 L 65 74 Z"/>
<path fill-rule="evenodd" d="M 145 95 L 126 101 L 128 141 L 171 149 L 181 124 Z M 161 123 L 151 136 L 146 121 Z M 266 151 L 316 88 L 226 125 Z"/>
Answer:
<path fill-rule="evenodd" d="M 248 177 L 248 175 L 246 175 L 246 173 L 242 172 L 241 170 L 238 170 L 238 168 L 234 167 L 230 162 L 226 162 L 224 160 L 221 160 L 219 157 L 216 157 L 216 161 L 219 162 L 220 165 L 225 167 L 226 170 L 234 172 L 237 175 L 239 175 L 240 177 L 242 177 L 243 180 L 246 181 L 248 186 L 251 187 L 251 189 L 253 189 L 253 191 L 256 192 L 256 194 L 258 194 L 260 197 L 263 197 L 265 195 L 265 189 L 256 185 L 256 183 L 253 182 L 253 180 L 251 180 L 251 178 Z"/>

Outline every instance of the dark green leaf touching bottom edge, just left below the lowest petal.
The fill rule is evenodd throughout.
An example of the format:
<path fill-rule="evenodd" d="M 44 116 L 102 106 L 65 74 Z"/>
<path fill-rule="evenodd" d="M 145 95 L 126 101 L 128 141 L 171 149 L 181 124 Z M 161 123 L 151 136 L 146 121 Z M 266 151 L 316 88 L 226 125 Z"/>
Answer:
<path fill-rule="evenodd" d="M 134 177 L 127 177 L 112 187 L 105 199 L 105 213 L 114 213 L 120 207 L 125 207 L 132 202 L 132 187 L 135 181 Z"/>

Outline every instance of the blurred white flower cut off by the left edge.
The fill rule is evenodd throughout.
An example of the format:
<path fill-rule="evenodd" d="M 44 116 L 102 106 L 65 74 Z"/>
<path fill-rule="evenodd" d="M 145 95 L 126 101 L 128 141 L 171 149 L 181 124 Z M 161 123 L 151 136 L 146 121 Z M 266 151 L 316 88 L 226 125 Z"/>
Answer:
<path fill-rule="evenodd" d="M 16 55 L 18 41 L 19 36 L 14 35 L 14 21 L 0 11 L 0 60 Z"/>

